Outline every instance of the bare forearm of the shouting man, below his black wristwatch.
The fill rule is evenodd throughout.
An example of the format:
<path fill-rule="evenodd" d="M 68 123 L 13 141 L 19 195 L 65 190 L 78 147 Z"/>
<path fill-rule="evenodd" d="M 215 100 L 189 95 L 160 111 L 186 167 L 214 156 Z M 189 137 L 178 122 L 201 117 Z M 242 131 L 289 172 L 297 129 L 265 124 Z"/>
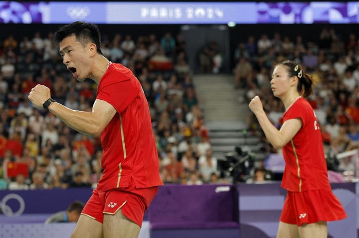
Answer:
<path fill-rule="evenodd" d="M 57 102 L 51 103 L 48 108 L 52 114 L 77 132 L 92 137 L 98 137 L 101 134 L 97 125 L 98 121 L 90 112 L 75 111 Z"/>

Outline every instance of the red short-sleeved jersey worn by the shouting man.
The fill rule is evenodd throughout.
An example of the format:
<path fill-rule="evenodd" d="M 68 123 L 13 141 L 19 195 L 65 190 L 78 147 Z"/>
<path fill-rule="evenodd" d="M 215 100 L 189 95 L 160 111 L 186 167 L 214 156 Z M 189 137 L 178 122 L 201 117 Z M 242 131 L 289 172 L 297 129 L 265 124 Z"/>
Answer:
<path fill-rule="evenodd" d="M 131 177 L 136 188 L 162 185 L 149 106 L 137 78 L 122 64 L 110 64 L 97 99 L 117 111 L 101 134 L 104 172 L 97 191 L 127 187 Z"/>

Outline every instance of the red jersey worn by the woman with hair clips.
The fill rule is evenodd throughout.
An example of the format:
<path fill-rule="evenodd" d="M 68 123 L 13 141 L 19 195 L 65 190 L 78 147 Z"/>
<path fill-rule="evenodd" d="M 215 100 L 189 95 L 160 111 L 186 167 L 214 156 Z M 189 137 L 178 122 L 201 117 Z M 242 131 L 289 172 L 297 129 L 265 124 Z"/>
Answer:
<path fill-rule="evenodd" d="M 302 97 L 284 113 L 283 121 L 302 120 L 302 128 L 283 148 L 286 162 L 282 187 L 288 191 L 330 188 L 322 135 L 315 113 Z"/>

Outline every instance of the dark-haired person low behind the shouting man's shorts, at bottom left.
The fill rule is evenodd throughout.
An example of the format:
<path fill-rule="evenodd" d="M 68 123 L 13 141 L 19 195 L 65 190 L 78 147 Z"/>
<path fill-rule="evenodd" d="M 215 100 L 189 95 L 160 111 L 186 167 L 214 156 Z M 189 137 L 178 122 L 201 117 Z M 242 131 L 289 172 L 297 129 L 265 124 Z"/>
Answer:
<path fill-rule="evenodd" d="M 72 202 L 66 211 L 59 211 L 51 215 L 46 221 L 46 224 L 57 222 L 77 222 L 81 211 L 84 208 L 84 203 L 81 201 Z"/>

